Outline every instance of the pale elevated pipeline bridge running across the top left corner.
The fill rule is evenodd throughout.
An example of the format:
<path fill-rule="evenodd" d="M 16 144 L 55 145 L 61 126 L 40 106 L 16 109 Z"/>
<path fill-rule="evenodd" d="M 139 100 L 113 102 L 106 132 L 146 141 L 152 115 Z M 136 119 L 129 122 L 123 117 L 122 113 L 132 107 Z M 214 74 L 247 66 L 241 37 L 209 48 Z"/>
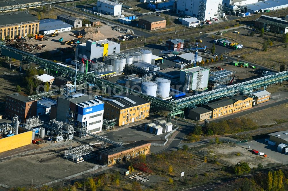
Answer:
<path fill-rule="evenodd" d="M 18 5 L 11 5 L 11 6 L 5 6 L 5 7 L 0 7 L 0 12 L 1 11 L 10 11 L 10 10 L 15 10 L 15 9 L 29 9 L 31 7 L 40 7 L 43 5 L 49 5 L 53 3 L 67 3 L 67 2 L 72 2 L 72 1 L 77 1 L 77 0 L 50 0 L 50 1 L 40 1 L 39 4 L 33 4 L 30 3 L 29 5 L 23 4 L 18 4 Z"/>

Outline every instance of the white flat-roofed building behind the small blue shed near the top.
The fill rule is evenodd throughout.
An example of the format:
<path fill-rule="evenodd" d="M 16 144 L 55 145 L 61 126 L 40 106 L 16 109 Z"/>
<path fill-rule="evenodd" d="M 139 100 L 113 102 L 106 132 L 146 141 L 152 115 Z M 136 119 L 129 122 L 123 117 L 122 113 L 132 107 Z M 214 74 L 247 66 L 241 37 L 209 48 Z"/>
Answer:
<path fill-rule="evenodd" d="M 121 15 L 122 5 L 108 0 L 98 0 L 97 7 L 93 7 L 94 11 L 100 13 L 108 13 L 108 15 Z"/>

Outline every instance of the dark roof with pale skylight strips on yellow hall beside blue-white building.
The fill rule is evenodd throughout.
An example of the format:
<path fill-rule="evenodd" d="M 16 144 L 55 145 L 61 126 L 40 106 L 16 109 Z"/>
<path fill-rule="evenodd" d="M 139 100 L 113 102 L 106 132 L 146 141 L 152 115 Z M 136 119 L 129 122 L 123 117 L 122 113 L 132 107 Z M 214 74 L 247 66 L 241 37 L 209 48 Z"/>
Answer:
<path fill-rule="evenodd" d="M 150 103 L 148 100 L 132 94 L 112 95 L 101 98 L 100 100 L 109 103 L 120 110 Z"/>

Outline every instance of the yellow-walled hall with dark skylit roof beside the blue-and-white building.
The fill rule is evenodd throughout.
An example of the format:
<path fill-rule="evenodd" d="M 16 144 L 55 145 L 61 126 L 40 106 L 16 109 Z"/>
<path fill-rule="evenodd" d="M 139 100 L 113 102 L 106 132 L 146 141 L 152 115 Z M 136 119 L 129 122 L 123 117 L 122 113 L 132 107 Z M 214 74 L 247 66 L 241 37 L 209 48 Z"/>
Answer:
<path fill-rule="evenodd" d="M 116 125 L 122 126 L 149 116 L 150 102 L 137 95 L 113 95 L 102 98 L 105 102 L 104 118 L 117 119 Z"/>

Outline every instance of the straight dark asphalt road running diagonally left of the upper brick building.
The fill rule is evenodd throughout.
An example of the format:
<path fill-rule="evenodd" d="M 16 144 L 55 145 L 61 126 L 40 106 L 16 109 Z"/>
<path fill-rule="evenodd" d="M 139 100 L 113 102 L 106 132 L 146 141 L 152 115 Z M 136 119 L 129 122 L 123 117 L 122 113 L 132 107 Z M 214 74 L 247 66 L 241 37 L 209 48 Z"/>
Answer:
<path fill-rule="evenodd" d="M 134 34 L 137 35 L 137 36 L 144 36 L 144 37 L 150 37 L 150 36 L 153 36 L 153 34 L 150 34 L 148 32 L 143 32 L 141 30 L 137 30 L 137 29 L 134 29 L 134 28 L 131 28 L 129 27 L 128 25 L 123 25 L 121 24 L 120 22 L 114 22 L 112 20 L 104 20 L 104 19 L 101 19 L 99 17 L 94 17 L 93 15 L 91 14 L 87 14 L 85 13 L 84 11 L 77 11 L 75 9 L 70 9 L 70 8 L 67 8 L 67 7 L 63 7 L 61 5 L 55 5 L 55 7 L 57 8 L 60 8 L 60 9 L 63 9 L 63 10 L 66 10 L 66 11 L 69 11 L 69 12 L 74 12 L 74 13 L 78 13 L 80 15 L 83 15 L 83 16 L 86 16 L 86 17 L 89 17 L 89 18 L 92 18 L 92 19 L 96 19 L 96 20 L 99 20 L 101 22 L 109 22 L 111 24 L 115 24 L 115 25 L 119 25 L 119 26 L 123 26 L 125 28 L 128 28 L 130 30 L 133 30 Z"/>

